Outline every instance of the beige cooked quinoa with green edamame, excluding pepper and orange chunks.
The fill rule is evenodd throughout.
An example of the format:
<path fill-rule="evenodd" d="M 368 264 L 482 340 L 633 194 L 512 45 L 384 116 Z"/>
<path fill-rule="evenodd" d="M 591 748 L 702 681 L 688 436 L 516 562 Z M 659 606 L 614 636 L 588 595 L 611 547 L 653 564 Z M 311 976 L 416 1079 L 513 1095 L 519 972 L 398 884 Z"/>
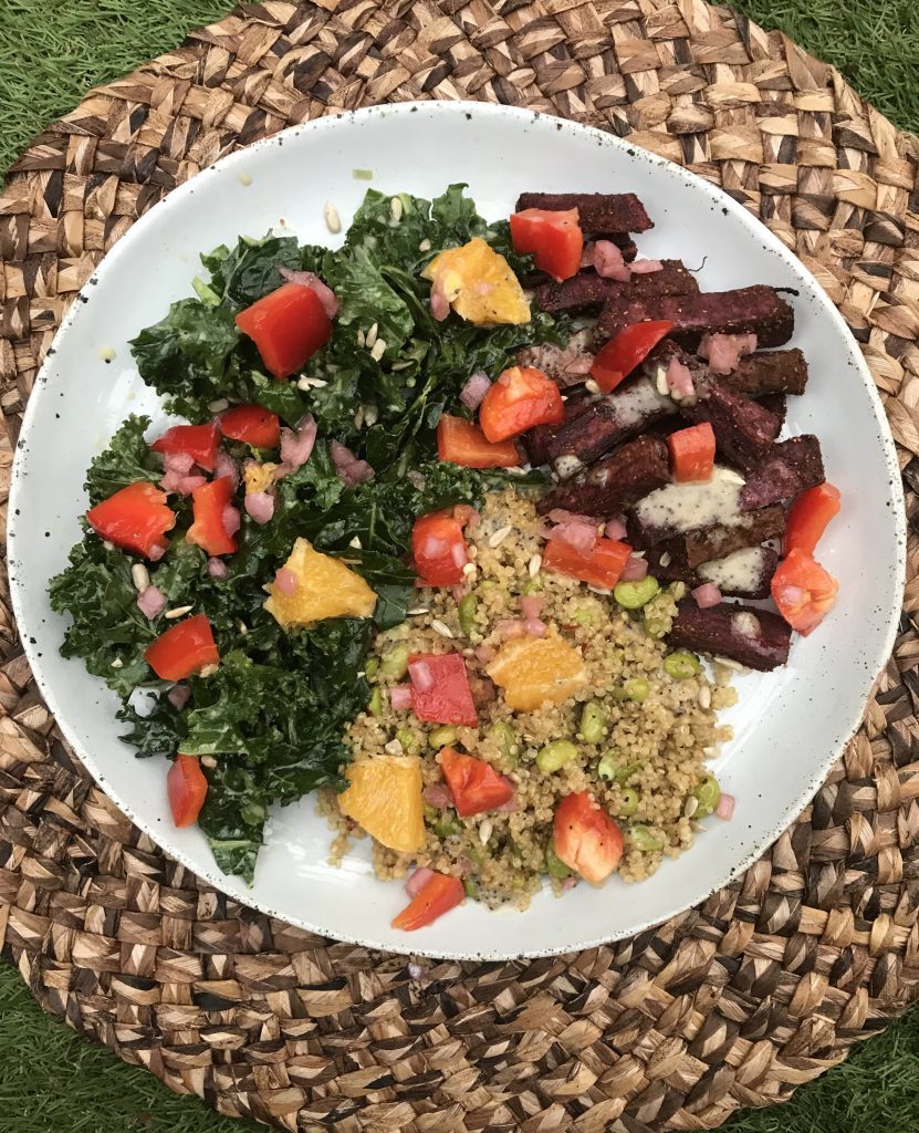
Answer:
<path fill-rule="evenodd" d="M 419 589 L 409 619 L 376 640 L 368 676 L 372 674 L 379 696 L 372 712 L 361 713 L 347 730 L 353 759 L 418 753 L 426 789 L 444 784 L 439 748 L 431 742 L 431 733 L 441 740 L 444 726 L 423 723 L 409 710 L 395 712 L 388 689 L 404 673 L 383 674 L 394 648 L 404 651 L 407 645 L 411 654 L 462 650 L 479 724 L 452 729 L 452 744 L 489 763 L 515 790 L 514 810 L 465 819 L 450 807 L 426 804 L 421 851 L 398 853 L 373 842 L 373 867 L 383 879 L 427 866 L 462 877 L 467 894 L 491 906 L 510 902 L 525 908 L 547 876 L 560 893 L 574 879 L 565 877 L 567 870 L 551 853 L 552 817 L 560 800 L 577 791 L 589 792 L 622 829 L 619 875 L 626 881 L 650 877 L 664 855 L 687 850 L 699 828 L 694 792 L 706 777 L 706 760 L 730 738 L 730 729 L 719 726 L 715 717 L 718 709 L 736 702 L 730 673 L 721 671 L 712 681 L 699 667 L 675 680 L 663 668 L 663 634 L 676 613 L 680 583 L 661 589 L 642 610 L 626 611 L 612 594 L 542 570 L 541 528 L 527 495 L 508 488 L 487 496 L 479 522 L 466 533 L 474 570 L 467 568 L 465 585 Z M 474 604 L 466 603 L 464 632 L 459 599 L 466 594 Z M 562 704 L 513 712 L 486 668 L 504 644 L 506 627 L 499 631 L 499 623 L 523 616 L 521 600 L 527 594 L 543 599 L 539 617 L 546 636 L 575 646 L 589 679 Z M 582 732 L 589 702 L 594 719 L 603 718 L 596 743 L 586 742 Z M 570 741 L 576 756 L 555 772 L 541 770 L 540 750 L 558 740 Z M 341 815 L 334 793 L 324 792 L 319 806 L 340 832 L 332 855 L 337 864 L 350 834 L 359 832 Z"/>

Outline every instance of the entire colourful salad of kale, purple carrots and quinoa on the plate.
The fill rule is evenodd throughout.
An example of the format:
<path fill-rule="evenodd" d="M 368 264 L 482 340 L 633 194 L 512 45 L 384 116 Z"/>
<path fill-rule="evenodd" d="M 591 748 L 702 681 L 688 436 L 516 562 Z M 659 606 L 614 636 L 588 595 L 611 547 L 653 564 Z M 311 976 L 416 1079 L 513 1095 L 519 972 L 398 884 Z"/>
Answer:
<path fill-rule="evenodd" d="M 224 872 L 315 793 L 412 931 L 642 881 L 732 817 L 718 714 L 830 613 L 841 501 L 781 438 L 789 300 L 702 292 L 652 227 L 628 193 L 487 223 L 371 189 L 341 247 L 203 255 L 134 339 L 174 420 L 93 461 L 51 605 Z"/>

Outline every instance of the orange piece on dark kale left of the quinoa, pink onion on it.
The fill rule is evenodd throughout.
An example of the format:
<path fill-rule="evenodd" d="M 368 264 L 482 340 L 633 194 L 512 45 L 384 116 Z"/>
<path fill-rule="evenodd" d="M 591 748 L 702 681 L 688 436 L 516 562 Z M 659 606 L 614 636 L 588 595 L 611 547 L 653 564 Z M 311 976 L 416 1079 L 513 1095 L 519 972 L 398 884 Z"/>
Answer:
<path fill-rule="evenodd" d="M 276 582 L 265 589 L 270 597 L 265 608 L 284 629 L 308 625 L 324 617 L 369 617 L 377 596 L 340 559 L 316 551 L 308 539 L 293 545 L 284 570 L 297 579 L 293 594 L 278 590 Z"/>

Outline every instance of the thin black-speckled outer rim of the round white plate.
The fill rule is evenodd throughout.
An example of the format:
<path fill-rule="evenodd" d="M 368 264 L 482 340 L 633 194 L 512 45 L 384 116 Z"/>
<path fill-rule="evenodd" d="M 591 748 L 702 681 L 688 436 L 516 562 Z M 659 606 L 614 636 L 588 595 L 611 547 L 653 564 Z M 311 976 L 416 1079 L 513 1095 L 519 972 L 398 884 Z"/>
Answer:
<path fill-rule="evenodd" d="M 267 150 L 272 146 L 283 145 L 285 139 L 294 136 L 299 136 L 304 133 L 318 131 L 318 130 L 329 130 L 341 128 L 342 123 L 360 119 L 368 120 L 375 117 L 385 118 L 393 114 L 409 114 L 422 110 L 426 113 L 433 114 L 465 114 L 479 116 L 488 118 L 490 116 L 509 116 L 517 118 L 521 125 L 525 125 L 539 119 L 552 118 L 553 116 L 543 114 L 539 111 L 527 110 L 525 108 L 513 108 L 504 107 L 493 103 L 484 102 L 441 102 L 441 101 L 424 101 L 424 102 L 403 102 L 403 103 L 386 103 L 376 107 L 361 108 L 354 111 L 347 111 L 330 116 L 325 116 L 321 118 L 312 119 L 308 122 L 303 122 L 297 126 L 289 127 L 277 134 L 270 135 L 269 137 L 261 138 L 254 142 L 251 145 L 244 147 L 243 150 L 237 151 L 234 153 L 227 154 L 224 157 L 218 159 L 212 165 L 201 170 L 201 173 L 213 172 L 217 169 L 220 170 L 232 170 L 239 168 L 239 171 L 243 171 L 243 165 L 251 164 L 252 156 L 260 151 Z M 621 148 L 624 151 L 635 151 L 641 150 L 639 146 L 634 145 L 627 138 L 620 138 L 613 134 L 608 134 L 602 130 L 595 129 L 594 127 L 584 126 L 582 123 L 570 121 L 568 119 L 558 119 L 558 128 L 568 128 L 572 130 L 584 133 L 591 136 L 599 145 L 605 145 L 613 148 Z M 899 594 L 902 596 L 905 586 L 905 535 L 907 535 L 907 520 L 905 520 L 905 504 L 903 497 L 903 485 L 900 474 L 900 466 L 896 458 L 896 449 L 891 434 L 890 424 L 887 421 L 883 403 L 878 395 L 877 389 L 875 386 L 874 380 L 871 378 L 868 366 L 861 355 L 861 351 L 856 342 L 849 326 L 842 318 L 841 314 L 831 301 L 828 296 L 823 291 L 819 283 L 816 281 L 814 275 L 805 267 L 805 265 L 791 253 L 782 242 L 775 237 L 764 224 L 762 224 L 757 218 L 753 216 L 748 210 L 744 208 L 742 205 L 737 203 L 730 195 L 728 195 L 723 189 L 718 186 L 712 185 L 710 181 L 697 177 L 696 174 L 689 172 L 682 167 L 661 157 L 654 153 L 642 151 L 642 157 L 650 162 L 653 167 L 658 168 L 662 173 L 673 177 L 677 176 L 685 182 L 693 184 L 696 189 L 703 190 L 713 205 L 720 207 L 722 211 L 727 210 L 735 215 L 741 216 L 745 222 L 750 220 L 755 221 L 757 227 L 757 238 L 762 239 L 764 246 L 779 256 L 780 259 L 793 272 L 796 276 L 800 280 L 801 284 L 807 287 L 811 292 L 811 298 L 819 304 L 819 306 L 825 310 L 826 315 L 830 317 L 831 322 L 835 326 L 836 332 L 840 338 L 845 342 L 847 352 L 849 353 L 852 364 L 859 373 L 862 383 L 868 392 L 876 423 L 878 425 L 878 438 L 881 441 L 883 457 L 887 467 L 888 480 L 891 486 L 891 503 L 893 504 L 894 511 L 894 523 L 895 523 L 895 543 L 896 543 L 896 560 L 893 563 L 894 568 L 894 586 L 892 588 L 893 594 Z M 45 680 L 43 673 L 43 666 L 41 657 L 38 656 L 37 649 L 29 640 L 28 627 L 26 620 L 24 619 L 24 593 L 26 588 L 26 581 L 19 570 L 19 564 L 16 561 L 15 554 L 12 554 L 12 548 L 15 546 L 17 525 L 24 523 L 26 521 L 26 513 L 19 508 L 20 497 L 24 493 L 23 487 L 23 459 L 22 453 L 28 446 L 31 434 L 33 431 L 35 411 L 34 408 L 37 403 L 37 398 L 35 393 L 41 390 L 43 385 L 46 384 L 49 380 L 49 372 L 51 368 L 51 359 L 57 351 L 59 343 L 63 335 L 67 334 L 69 327 L 72 323 L 79 318 L 80 310 L 84 303 L 88 298 L 89 289 L 95 284 L 97 278 L 102 272 L 106 270 L 106 265 L 111 264 L 117 257 L 130 255 L 134 238 L 136 233 L 144 231 L 147 227 L 156 223 L 156 219 L 162 215 L 164 208 L 174 207 L 181 203 L 183 197 L 194 191 L 195 187 L 198 185 L 198 177 L 189 179 L 182 185 L 173 189 L 166 197 L 157 202 L 151 210 L 148 210 L 143 216 L 140 216 L 126 232 L 126 235 L 115 244 L 115 246 L 105 255 L 104 259 L 100 266 L 95 270 L 93 275 L 87 280 L 84 287 L 80 289 L 77 299 L 81 301 L 74 301 L 69 309 L 67 310 L 61 324 L 54 334 L 51 348 L 49 349 L 45 360 L 43 361 L 38 374 L 36 376 L 35 386 L 33 390 L 33 395 L 29 398 L 26 406 L 25 415 L 23 418 L 23 426 L 19 434 L 19 440 L 16 445 L 16 453 L 14 457 L 12 476 L 10 484 L 10 496 L 9 496 L 9 527 L 8 527 L 8 566 L 9 566 L 9 581 L 10 591 L 12 599 L 12 608 L 16 616 L 17 627 L 19 630 L 20 640 L 26 655 L 26 658 L 32 668 L 32 673 L 35 678 L 35 682 L 38 690 L 44 698 L 49 709 L 53 714 L 58 726 L 61 729 L 62 734 L 68 740 L 70 746 L 76 751 L 78 758 L 84 764 L 89 774 L 100 784 L 102 790 L 112 799 L 115 806 L 129 818 L 136 826 L 138 826 L 145 834 L 147 834 L 155 843 L 162 844 L 161 836 L 156 828 L 149 824 L 145 823 L 138 815 L 132 810 L 131 803 L 128 799 L 122 798 L 120 793 L 114 792 L 110 784 L 105 781 L 105 776 L 96 765 L 92 755 L 89 755 L 84 746 L 76 739 L 76 735 L 68 724 L 67 714 L 62 709 L 60 700 L 55 693 L 54 688 Z M 242 225 L 242 221 L 241 221 Z M 774 828 L 765 836 L 761 836 L 754 849 L 748 852 L 744 859 L 739 862 L 735 862 L 730 868 L 725 869 L 723 876 L 718 880 L 716 884 L 710 885 L 705 893 L 693 894 L 692 900 L 686 902 L 676 902 L 673 908 L 665 912 L 661 917 L 656 917 L 653 920 L 635 925 L 629 928 L 628 931 L 613 931 L 607 932 L 600 937 L 589 938 L 583 942 L 577 942 L 576 944 L 566 945 L 564 947 L 552 947 L 552 948 L 536 948 L 527 949 L 526 947 L 519 951 L 508 952 L 469 952 L 469 951 L 450 951 L 450 949 L 430 949 L 424 947 L 423 939 L 406 939 L 405 948 L 396 948 L 393 946 L 392 942 L 378 943 L 372 939 L 373 932 L 372 928 L 369 929 L 368 934 L 362 937 L 350 936 L 347 934 L 342 934 L 338 931 L 333 932 L 327 927 L 312 923 L 306 917 L 292 917 L 290 912 L 281 913 L 277 910 L 268 908 L 265 903 L 259 902 L 256 897 L 251 900 L 240 896 L 238 893 L 229 894 L 233 900 L 241 901 L 244 904 L 250 905 L 254 909 L 259 910 L 268 915 L 276 917 L 281 920 L 294 923 L 308 931 L 319 934 L 321 936 L 333 937 L 335 939 L 343 940 L 345 943 L 358 944 L 367 947 L 379 948 L 385 952 L 394 952 L 397 954 L 411 954 L 419 956 L 428 956 L 433 959 L 455 959 L 455 960 L 474 960 L 474 961 L 498 961 L 498 960 L 513 960 L 516 957 L 540 957 L 549 955 L 564 955 L 573 954 L 577 951 L 598 947 L 600 945 L 607 944 L 611 940 L 624 939 L 629 936 L 636 935 L 638 932 L 645 931 L 653 928 L 656 925 L 664 923 L 667 920 L 675 915 L 679 915 L 686 910 L 699 904 L 705 901 L 711 894 L 716 893 L 719 889 L 723 888 L 725 885 L 733 881 L 737 877 L 744 874 L 755 861 L 757 861 L 768 849 L 770 845 L 793 823 L 793 820 L 800 815 L 800 812 L 807 807 L 807 804 L 814 798 L 814 794 L 819 789 L 824 780 L 826 778 L 830 768 L 840 757 L 845 744 L 851 740 L 851 738 L 858 731 L 866 705 L 870 697 L 871 690 L 874 689 L 875 682 L 883 671 L 884 666 L 890 658 L 895 638 L 896 629 L 899 624 L 900 611 L 902 608 L 902 603 L 899 602 L 896 610 L 891 610 L 887 619 L 886 634 L 883 639 L 883 649 L 877 650 L 877 656 L 875 656 L 871 664 L 866 665 L 866 675 L 862 680 L 862 692 L 858 701 L 858 706 L 848 716 L 845 721 L 840 719 L 840 730 L 836 733 L 839 739 L 835 744 L 832 746 L 830 755 L 822 761 L 817 767 L 815 765 L 815 772 L 813 781 L 808 786 L 799 792 L 795 798 L 793 802 L 785 807 L 781 818 L 774 826 Z M 78 662 L 75 662 L 78 663 Z M 200 877 L 208 885 L 221 892 L 226 891 L 226 877 L 221 874 L 216 867 L 213 869 L 203 869 L 198 861 L 191 860 L 191 855 L 186 854 L 180 847 L 172 845 L 166 846 L 166 852 L 173 857 L 177 861 L 181 862 L 184 867 L 191 870 L 196 876 Z M 385 884 L 385 883 L 380 883 Z M 524 922 L 521 922 L 522 935 L 525 932 Z"/>

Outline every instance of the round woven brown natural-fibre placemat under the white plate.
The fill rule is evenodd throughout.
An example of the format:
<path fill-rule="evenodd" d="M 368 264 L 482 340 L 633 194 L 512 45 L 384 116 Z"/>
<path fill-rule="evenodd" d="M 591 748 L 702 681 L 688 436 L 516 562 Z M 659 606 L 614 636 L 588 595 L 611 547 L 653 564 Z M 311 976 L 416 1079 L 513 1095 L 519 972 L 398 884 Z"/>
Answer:
<path fill-rule="evenodd" d="M 698 909 L 579 955 L 412 978 L 242 908 L 135 829 L 38 699 L 2 577 L 0 944 L 48 1011 L 226 1114 L 343 1133 L 712 1128 L 788 1098 L 917 995 L 914 139 L 783 35 L 701 0 L 238 9 L 92 92 L 14 168 L 2 484 L 61 315 L 137 216 L 292 122 L 426 97 L 629 134 L 723 185 L 839 305 L 885 400 L 911 526 L 901 633 L 861 731 L 813 806 Z"/>

